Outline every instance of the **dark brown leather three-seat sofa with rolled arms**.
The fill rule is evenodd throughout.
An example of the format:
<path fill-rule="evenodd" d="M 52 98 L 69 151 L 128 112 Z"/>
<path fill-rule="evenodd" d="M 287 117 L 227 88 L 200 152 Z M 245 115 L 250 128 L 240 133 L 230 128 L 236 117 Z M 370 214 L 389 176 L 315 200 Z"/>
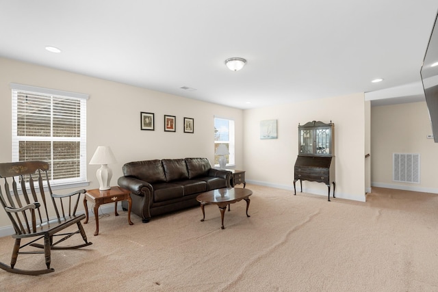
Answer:
<path fill-rule="evenodd" d="M 118 185 L 131 191 L 131 212 L 151 217 L 199 206 L 196 196 L 203 191 L 230 187 L 231 172 L 211 168 L 207 158 L 155 159 L 123 165 Z M 123 209 L 128 208 L 126 201 Z"/>

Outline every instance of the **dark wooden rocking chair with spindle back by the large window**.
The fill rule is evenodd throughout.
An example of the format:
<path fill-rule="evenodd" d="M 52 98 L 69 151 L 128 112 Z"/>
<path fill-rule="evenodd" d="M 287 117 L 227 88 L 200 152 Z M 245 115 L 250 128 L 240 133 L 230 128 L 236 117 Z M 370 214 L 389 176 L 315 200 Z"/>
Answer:
<path fill-rule="evenodd" d="M 86 190 L 81 189 L 66 195 L 52 194 L 48 170 L 49 163 L 43 161 L 0 163 L 0 178 L 4 178 L 3 188 L 0 183 L 0 202 L 15 230 L 15 234 L 12 235 L 15 244 L 11 264 L 9 266 L 0 263 L 0 268 L 5 271 L 26 275 L 47 274 L 54 271 L 50 267 L 51 250 L 82 248 L 92 244 L 87 241 L 81 224 L 85 215 L 76 215 L 79 198 Z M 64 229 L 74 224 L 77 224 L 77 229 L 66 233 Z M 63 230 L 64 233 L 57 234 Z M 57 245 L 77 233 L 81 234 L 85 243 L 73 246 Z M 53 241 L 54 237 L 62 238 Z M 21 239 L 27 239 L 29 242 L 21 245 Z M 37 242 L 40 239 L 43 239 L 42 244 Z M 28 245 L 44 251 L 21 251 Z M 18 254 L 44 254 L 47 269 L 15 269 Z"/>

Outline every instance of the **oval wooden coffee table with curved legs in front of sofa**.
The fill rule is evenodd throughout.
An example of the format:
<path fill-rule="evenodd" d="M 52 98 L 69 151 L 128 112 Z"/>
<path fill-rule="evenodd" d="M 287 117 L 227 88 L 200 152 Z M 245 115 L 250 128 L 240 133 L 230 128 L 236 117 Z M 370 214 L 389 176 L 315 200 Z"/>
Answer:
<path fill-rule="evenodd" d="M 229 189 L 214 189 L 212 191 L 206 191 L 205 193 L 199 194 L 196 197 L 196 200 L 201 203 L 201 210 L 203 211 L 203 219 L 201 222 L 205 220 L 205 211 L 204 206 L 206 204 L 217 204 L 220 210 L 220 218 L 222 220 L 222 229 L 224 229 L 224 213 L 229 204 L 233 204 L 235 202 L 239 202 L 240 200 L 246 200 L 246 216 L 248 215 L 248 207 L 250 203 L 250 199 L 248 198 L 253 194 L 253 191 L 250 189 L 242 189 L 238 188 L 229 188 Z M 229 210 L 228 210 L 229 211 Z"/>

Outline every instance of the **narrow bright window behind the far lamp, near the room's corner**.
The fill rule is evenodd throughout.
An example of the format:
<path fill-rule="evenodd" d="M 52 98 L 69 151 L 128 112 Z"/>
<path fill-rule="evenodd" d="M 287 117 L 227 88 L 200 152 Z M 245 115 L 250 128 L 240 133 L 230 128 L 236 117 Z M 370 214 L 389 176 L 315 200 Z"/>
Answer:
<path fill-rule="evenodd" d="M 226 155 L 227 166 L 235 165 L 235 144 L 234 144 L 234 120 L 214 117 L 214 166 L 219 166 L 219 155 L 216 149 L 220 144 L 228 148 L 229 155 Z"/>

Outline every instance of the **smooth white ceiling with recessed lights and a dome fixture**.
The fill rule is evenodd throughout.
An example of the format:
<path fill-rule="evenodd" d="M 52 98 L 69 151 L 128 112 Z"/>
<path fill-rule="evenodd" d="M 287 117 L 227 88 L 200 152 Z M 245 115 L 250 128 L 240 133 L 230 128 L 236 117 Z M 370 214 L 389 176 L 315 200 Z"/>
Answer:
<path fill-rule="evenodd" d="M 249 109 L 420 81 L 437 10 L 436 0 L 0 0 L 0 56 Z M 247 64 L 233 72 L 229 57 Z"/>

